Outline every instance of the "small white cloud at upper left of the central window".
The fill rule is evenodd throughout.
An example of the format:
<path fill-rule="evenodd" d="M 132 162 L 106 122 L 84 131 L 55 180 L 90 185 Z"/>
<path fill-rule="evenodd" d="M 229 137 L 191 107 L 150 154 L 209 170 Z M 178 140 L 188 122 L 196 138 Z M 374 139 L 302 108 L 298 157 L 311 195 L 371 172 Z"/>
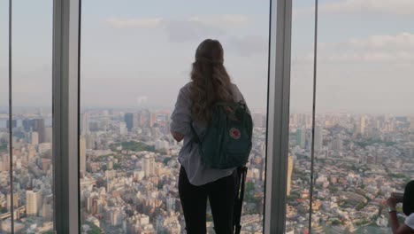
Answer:
<path fill-rule="evenodd" d="M 148 18 L 148 19 L 118 19 L 111 17 L 106 20 L 111 27 L 159 27 L 163 23 L 162 18 Z"/>

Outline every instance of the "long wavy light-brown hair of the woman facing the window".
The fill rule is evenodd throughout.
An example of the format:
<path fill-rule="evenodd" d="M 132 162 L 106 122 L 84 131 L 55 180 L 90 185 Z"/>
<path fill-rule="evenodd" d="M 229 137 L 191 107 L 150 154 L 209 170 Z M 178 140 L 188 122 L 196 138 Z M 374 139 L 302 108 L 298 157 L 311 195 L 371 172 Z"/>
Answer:
<path fill-rule="evenodd" d="M 207 39 L 196 50 L 191 71 L 191 113 L 196 121 L 211 121 L 217 102 L 233 101 L 232 82 L 223 65 L 224 51 L 217 40 Z"/>

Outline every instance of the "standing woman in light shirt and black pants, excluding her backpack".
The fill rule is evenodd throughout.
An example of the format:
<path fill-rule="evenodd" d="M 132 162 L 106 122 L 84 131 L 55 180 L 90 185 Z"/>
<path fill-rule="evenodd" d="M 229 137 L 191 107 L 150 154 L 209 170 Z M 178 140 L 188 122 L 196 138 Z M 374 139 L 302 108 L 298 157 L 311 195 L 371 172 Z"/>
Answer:
<path fill-rule="evenodd" d="M 224 51 L 217 40 L 207 39 L 196 50 L 191 82 L 180 89 L 172 114 L 171 133 L 184 139 L 179 154 L 181 164 L 179 191 L 188 234 L 206 233 L 206 206 L 210 201 L 214 230 L 233 233 L 236 195 L 235 168 L 211 169 L 203 166 L 193 132 L 203 136 L 218 102 L 244 101 L 242 93 L 230 81 L 223 65 Z M 194 131 L 191 129 L 193 128 Z"/>

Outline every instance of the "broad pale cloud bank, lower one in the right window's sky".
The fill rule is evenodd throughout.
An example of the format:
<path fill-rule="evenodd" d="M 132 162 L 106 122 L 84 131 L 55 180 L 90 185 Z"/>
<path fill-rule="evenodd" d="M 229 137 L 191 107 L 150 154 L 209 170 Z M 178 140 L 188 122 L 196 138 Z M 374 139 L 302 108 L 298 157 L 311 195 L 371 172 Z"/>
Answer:
<path fill-rule="evenodd" d="M 293 56 L 295 63 L 312 63 L 313 53 Z M 318 62 L 321 63 L 414 63 L 414 34 L 372 35 L 351 38 L 340 43 L 320 43 Z"/>

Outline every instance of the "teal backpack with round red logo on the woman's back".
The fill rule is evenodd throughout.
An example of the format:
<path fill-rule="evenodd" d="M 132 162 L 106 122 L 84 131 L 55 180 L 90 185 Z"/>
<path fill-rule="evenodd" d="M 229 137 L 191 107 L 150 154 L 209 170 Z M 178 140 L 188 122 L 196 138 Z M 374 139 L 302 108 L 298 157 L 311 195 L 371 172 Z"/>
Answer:
<path fill-rule="evenodd" d="M 211 122 L 203 137 L 190 123 L 193 141 L 199 146 L 203 165 L 226 169 L 244 166 L 252 146 L 253 121 L 244 102 L 214 105 Z"/>

